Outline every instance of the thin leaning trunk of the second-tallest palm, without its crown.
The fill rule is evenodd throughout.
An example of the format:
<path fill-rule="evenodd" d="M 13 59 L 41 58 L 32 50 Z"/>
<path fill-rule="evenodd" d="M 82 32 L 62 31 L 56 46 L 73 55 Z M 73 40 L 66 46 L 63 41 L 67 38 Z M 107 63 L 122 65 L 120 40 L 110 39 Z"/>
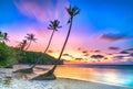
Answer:
<path fill-rule="evenodd" d="M 47 46 L 47 48 L 45 48 L 45 51 L 43 53 L 47 53 L 47 51 L 49 49 L 54 32 L 55 32 L 55 30 L 53 30 L 53 32 L 52 32 L 52 34 L 50 36 L 50 40 L 49 40 L 49 44 L 48 44 L 48 46 Z M 40 63 L 40 60 L 42 59 L 42 57 L 43 57 L 43 54 L 38 58 L 37 63 L 31 67 L 31 69 L 33 69 L 35 67 L 35 65 L 38 63 Z"/>

